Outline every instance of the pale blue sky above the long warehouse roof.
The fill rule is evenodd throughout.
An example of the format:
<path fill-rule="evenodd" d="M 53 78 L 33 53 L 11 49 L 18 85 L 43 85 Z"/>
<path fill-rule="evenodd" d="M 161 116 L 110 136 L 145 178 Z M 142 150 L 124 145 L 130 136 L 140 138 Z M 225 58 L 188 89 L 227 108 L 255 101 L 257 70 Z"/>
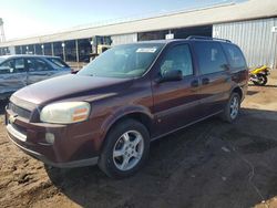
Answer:
<path fill-rule="evenodd" d="M 53 33 L 239 0 L 0 0 L 6 39 Z"/>

